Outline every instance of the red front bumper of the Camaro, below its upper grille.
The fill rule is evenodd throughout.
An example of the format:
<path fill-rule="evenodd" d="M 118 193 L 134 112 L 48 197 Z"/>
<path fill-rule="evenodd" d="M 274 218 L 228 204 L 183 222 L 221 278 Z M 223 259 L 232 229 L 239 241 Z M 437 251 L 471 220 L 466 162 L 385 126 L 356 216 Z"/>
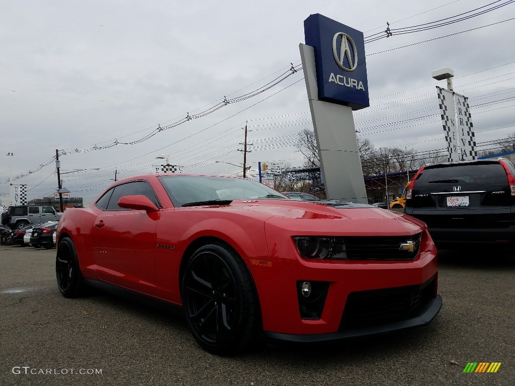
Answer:
<path fill-rule="evenodd" d="M 263 330 L 269 337 L 302 341 L 304 338 L 294 337 L 305 336 L 306 340 L 316 341 L 381 333 L 428 323 L 441 307 L 437 296 L 437 251 L 427 231 L 422 232 L 418 256 L 409 261 L 307 260 L 299 256 L 293 242 L 284 242 L 280 232 L 267 232 L 268 235 L 268 248 L 274 256 L 271 264 L 249 265 L 249 269 L 260 297 Z M 327 296 L 315 318 L 302 314 L 298 288 L 303 282 L 327 284 Z M 416 310 L 419 313 L 414 314 L 412 310 L 402 315 L 387 312 L 376 318 L 375 309 L 383 308 L 383 299 L 387 303 L 407 301 L 409 304 L 411 294 L 427 283 L 433 285 L 424 292 L 424 302 Z M 398 291 L 407 293 L 398 295 Z M 367 317 L 354 318 L 362 311 L 360 296 L 366 298 L 370 293 L 375 299 L 366 299 L 365 303 L 370 302 L 364 313 L 373 315 L 374 325 L 368 323 Z M 350 303 L 354 304 L 351 311 Z M 354 324 L 348 323 L 350 314 Z"/>

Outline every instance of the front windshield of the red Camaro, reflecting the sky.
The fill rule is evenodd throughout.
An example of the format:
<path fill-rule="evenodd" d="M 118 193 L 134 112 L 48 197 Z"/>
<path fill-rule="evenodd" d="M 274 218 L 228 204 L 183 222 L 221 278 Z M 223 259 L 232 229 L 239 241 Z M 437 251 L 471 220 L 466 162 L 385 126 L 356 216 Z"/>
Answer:
<path fill-rule="evenodd" d="M 224 205 L 232 200 L 287 200 L 277 191 L 253 180 L 213 176 L 161 176 L 174 206 Z M 187 205 L 186 205 L 187 204 Z"/>

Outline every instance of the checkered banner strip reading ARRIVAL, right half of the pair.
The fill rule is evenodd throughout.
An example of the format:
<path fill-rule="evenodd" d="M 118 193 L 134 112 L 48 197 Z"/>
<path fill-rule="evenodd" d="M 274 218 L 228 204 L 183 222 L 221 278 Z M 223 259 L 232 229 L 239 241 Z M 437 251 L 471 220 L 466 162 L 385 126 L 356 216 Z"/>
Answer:
<path fill-rule="evenodd" d="M 454 93 L 456 103 L 456 126 L 459 134 L 459 150 L 461 160 L 475 160 L 477 158 L 476 138 L 470 115 L 469 98 Z"/>

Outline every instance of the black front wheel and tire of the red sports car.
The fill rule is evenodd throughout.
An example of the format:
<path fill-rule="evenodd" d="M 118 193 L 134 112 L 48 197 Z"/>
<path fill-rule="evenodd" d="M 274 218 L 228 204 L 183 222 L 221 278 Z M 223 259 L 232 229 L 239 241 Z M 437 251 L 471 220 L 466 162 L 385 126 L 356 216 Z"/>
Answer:
<path fill-rule="evenodd" d="M 222 244 L 199 248 L 182 280 L 186 321 L 195 340 L 213 354 L 250 345 L 259 328 L 259 305 L 245 262 Z"/>

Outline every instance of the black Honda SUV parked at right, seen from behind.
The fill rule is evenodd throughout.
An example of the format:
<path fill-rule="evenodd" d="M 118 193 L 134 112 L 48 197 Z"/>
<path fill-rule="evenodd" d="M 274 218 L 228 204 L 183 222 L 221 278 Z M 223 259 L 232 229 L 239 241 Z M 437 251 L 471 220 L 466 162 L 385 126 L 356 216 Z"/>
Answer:
<path fill-rule="evenodd" d="M 506 159 L 422 167 L 405 213 L 424 221 L 439 247 L 515 242 L 515 166 Z"/>

